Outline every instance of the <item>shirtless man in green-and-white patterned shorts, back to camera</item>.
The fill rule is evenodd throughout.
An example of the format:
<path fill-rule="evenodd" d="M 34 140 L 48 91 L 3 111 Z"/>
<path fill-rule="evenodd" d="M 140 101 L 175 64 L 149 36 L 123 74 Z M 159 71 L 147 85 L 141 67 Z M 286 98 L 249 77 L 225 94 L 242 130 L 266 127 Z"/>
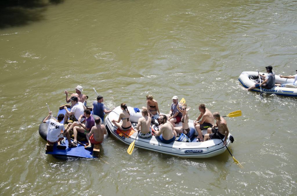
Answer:
<path fill-rule="evenodd" d="M 136 129 L 138 132 L 140 131 L 139 132 L 140 137 L 147 138 L 147 137 L 150 137 L 152 134 L 151 117 L 149 117 L 147 109 L 142 109 L 141 114 L 143 117 L 138 119 Z"/>

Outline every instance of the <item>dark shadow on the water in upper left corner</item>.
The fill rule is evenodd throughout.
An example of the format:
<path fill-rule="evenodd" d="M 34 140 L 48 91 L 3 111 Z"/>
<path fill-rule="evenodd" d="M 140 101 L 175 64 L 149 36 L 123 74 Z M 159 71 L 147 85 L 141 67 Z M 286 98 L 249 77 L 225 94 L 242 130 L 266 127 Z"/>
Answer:
<path fill-rule="evenodd" d="M 0 28 L 27 25 L 44 20 L 43 13 L 51 4 L 64 0 L 0 0 Z"/>

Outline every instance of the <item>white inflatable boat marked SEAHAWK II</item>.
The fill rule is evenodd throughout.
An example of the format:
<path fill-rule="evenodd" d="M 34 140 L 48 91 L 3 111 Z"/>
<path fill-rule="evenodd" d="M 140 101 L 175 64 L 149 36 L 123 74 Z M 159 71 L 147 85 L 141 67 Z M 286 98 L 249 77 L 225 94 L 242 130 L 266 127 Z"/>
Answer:
<path fill-rule="evenodd" d="M 260 72 L 260 74 L 267 75 L 267 73 L 262 73 L 262 72 Z M 254 86 L 255 83 L 259 82 L 258 72 L 244 71 L 239 75 L 238 80 L 240 81 L 242 86 L 248 89 L 249 87 Z M 280 78 L 279 75 L 275 75 L 276 84 L 293 83 L 293 81 L 294 81 L 293 79 Z M 260 87 L 252 89 L 252 91 L 260 92 Z M 270 93 L 270 94 L 278 94 L 278 95 L 283 95 L 288 97 L 297 97 L 297 88 L 289 84 L 286 85 L 286 87 L 275 86 L 271 89 L 262 88 L 262 92 Z"/>

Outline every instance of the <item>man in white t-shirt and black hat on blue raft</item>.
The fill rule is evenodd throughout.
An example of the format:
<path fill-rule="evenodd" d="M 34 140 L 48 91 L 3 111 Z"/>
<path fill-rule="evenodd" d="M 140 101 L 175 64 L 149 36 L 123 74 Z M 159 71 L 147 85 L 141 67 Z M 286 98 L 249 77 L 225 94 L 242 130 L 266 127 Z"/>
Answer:
<path fill-rule="evenodd" d="M 73 122 L 78 121 L 80 115 L 83 115 L 83 111 L 86 110 L 86 106 L 83 105 L 82 102 L 78 102 L 77 97 L 71 97 L 70 100 L 73 107 L 71 108 L 70 112 L 68 111 L 66 106 L 64 107 L 64 110 L 66 110 L 64 124 L 68 121 L 68 118 Z M 80 122 L 83 122 L 84 120 L 84 118 L 81 118 Z"/>

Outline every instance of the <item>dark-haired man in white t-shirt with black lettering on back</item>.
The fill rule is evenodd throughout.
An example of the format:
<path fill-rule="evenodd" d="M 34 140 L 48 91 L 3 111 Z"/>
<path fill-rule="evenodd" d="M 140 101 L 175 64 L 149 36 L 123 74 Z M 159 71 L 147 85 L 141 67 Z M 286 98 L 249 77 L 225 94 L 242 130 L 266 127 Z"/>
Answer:
<path fill-rule="evenodd" d="M 43 123 L 48 124 L 46 140 L 50 143 L 57 143 L 62 141 L 64 139 L 64 136 L 66 136 L 69 144 L 68 147 L 75 147 L 75 145 L 73 145 L 71 142 L 69 131 L 65 131 L 64 125 L 61 123 L 64 119 L 64 114 L 59 114 L 58 121 L 56 119 L 48 120 L 51 115 L 52 112 L 49 112 L 48 116 L 42 121 Z"/>

